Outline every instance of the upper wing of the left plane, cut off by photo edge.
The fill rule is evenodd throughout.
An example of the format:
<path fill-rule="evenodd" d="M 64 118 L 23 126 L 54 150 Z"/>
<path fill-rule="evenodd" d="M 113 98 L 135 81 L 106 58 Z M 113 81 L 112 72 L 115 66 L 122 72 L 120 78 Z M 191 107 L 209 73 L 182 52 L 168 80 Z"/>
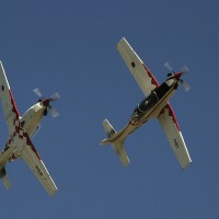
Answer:
<path fill-rule="evenodd" d="M 1 61 L 0 61 L 0 99 L 2 103 L 3 114 L 7 119 L 9 131 L 11 134 L 13 132 L 14 122 L 18 120 L 20 114 L 16 108 Z"/>

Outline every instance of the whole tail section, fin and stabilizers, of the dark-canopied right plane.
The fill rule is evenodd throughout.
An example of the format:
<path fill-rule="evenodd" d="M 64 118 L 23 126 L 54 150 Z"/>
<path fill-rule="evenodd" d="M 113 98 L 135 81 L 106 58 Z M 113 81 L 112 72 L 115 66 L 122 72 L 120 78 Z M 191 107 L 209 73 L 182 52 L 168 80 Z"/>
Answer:
<path fill-rule="evenodd" d="M 116 152 L 116 154 L 119 157 L 122 163 L 125 166 L 127 166 L 130 163 L 130 161 L 128 159 L 128 155 L 124 147 L 124 140 L 123 141 L 117 140 L 117 137 L 120 131 L 116 132 L 116 130 L 113 128 L 113 126 L 110 124 L 107 119 L 104 119 L 102 125 L 108 139 L 102 140 L 101 143 L 102 145 L 112 143 L 113 149 Z"/>

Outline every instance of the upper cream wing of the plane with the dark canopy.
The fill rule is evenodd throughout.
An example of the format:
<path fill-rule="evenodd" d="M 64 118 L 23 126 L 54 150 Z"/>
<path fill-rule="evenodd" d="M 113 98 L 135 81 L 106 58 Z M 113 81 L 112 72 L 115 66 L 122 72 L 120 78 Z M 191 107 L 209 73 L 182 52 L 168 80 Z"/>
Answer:
<path fill-rule="evenodd" d="M 125 38 L 118 42 L 117 49 L 143 94 L 149 95 L 159 85 L 155 78 Z"/>

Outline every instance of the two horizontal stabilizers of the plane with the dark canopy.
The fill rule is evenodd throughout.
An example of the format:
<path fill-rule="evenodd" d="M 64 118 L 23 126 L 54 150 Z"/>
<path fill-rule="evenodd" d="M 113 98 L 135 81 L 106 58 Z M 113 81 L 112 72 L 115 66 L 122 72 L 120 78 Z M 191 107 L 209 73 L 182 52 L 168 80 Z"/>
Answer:
<path fill-rule="evenodd" d="M 116 130 L 113 128 L 113 126 L 110 124 L 110 122 L 107 119 L 104 119 L 103 123 L 103 128 L 106 132 L 107 138 L 112 138 L 113 136 L 115 136 L 117 132 Z M 123 142 L 114 142 L 112 143 L 114 151 L 116 152 L 116 154 L 119 157 L 122 163 L 127 166 L 130 161 L 128 159 L 128 155 L 126 153 L 125 147 L 124 147 L 124 141 Z"/>

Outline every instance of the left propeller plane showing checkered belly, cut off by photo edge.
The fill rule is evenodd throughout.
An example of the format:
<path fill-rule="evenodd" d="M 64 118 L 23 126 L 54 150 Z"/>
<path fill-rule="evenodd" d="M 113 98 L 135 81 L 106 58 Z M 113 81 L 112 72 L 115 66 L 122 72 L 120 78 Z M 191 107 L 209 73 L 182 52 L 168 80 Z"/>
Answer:
<path fill-rule="evenodd" d="M 58 116 L 58 112 L 51 107 L 50 102 L 58 100 L 60 96 L 58 93 L 55 93 L 49 99 L 43 99 L 38 89 L 35 89 L 34 92 L 41 99 L 35 105 L 31 106 L 23 116 L 20 116 L 3 65 L 0 62 L 0 100 L 9 128 L 9 139 L 0 153 L 0 178 L 8 189 L 10 187 L 10 182 L 5 165 L 11 161 L 22 158 L 42 183 L 46 192 L 49 195 L 54 195 L 58 188 L 31 138 L 38 131 L 41 120 L 48 112 L 50 112 L 54 117 Z"/>

